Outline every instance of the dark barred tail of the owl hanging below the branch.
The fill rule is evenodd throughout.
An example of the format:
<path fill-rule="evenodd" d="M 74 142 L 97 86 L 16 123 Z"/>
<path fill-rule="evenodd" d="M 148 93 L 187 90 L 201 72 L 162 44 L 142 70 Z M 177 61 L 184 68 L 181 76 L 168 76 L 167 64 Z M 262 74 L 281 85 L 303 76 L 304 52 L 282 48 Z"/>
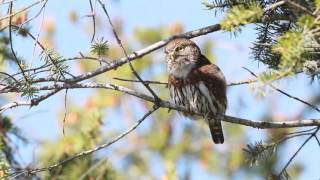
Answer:
<path fill-rule="evenodd" d="M 224 137 L 221 127 L 221 120 L 220 118 L 208 118 L 209 128 L 211 132 L 212 140 L 215 144 L 223 144 Z"/>

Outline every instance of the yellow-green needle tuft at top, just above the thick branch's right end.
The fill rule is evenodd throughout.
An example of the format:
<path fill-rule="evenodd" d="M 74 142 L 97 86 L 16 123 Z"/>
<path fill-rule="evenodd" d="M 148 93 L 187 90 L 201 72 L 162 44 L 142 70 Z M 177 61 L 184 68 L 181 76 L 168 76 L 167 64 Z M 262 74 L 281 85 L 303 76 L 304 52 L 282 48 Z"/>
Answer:
<path fill-rule="evenodd" d="M 233 32 L 242 25 L 255 23 L 262 13 L 263 10 L 258 4 L 234 6 L 221 21 L 221 28 Z"/>

